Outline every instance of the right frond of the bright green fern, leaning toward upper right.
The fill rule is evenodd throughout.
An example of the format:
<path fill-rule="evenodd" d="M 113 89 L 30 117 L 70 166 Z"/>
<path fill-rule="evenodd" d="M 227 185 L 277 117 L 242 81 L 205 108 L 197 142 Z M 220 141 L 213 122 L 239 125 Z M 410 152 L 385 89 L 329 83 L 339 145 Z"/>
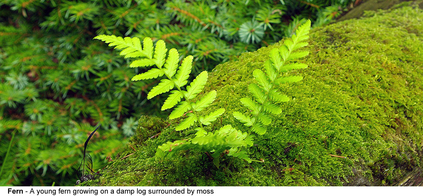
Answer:
<path fill-rule="evenodd" d="M 310 20 L 302 24 L 291 38 L 285 40 L 279 49 L 270 51 L 270 60 L 267 60 L 264 65 L 265 72 L 260 69 L 253 71 L 254 79 L 258 82 L 258 85 L 250 84 L 248 90 L 253 94 L 255 101 L 248 97 L 240 99 L 241 103 L 250 109 L 252 116 L 244 115 L 241 112 L 233 112 L 233 117 L 244 123 L 245 126 L 251 127 L 251 131 L 258 135 L 266 133 L 264 125 L 269 125 L 272 122 L 269 114 L 280 114 L 282 112 L 275 102 L 289 101 L 287 95 L 281 94 L 274 88 L 275 85 L 302 80 L 302 76 L 281 77 L 280 73 L 293 69 L 307 68 L 304 63 L 289 63 L 287 65 L 286 63 L 308 55 L 308 51 L 294 51 L 308 45 L 305 40 L 308 39 L 310 24 Z"/>

